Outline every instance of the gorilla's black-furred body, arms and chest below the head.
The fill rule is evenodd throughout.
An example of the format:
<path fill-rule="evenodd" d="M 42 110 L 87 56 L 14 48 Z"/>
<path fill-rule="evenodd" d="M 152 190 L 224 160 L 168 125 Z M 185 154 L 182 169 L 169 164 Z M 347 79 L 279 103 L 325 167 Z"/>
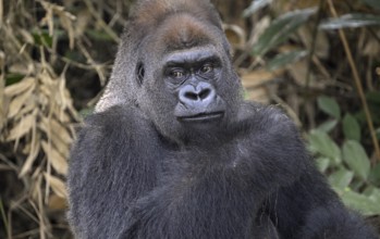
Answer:
<path fill-rule="evenodd" d="M 377 238 L 315 169 L 289 118 L 254 104 L 241 111 L 246 118 L 220 129 L 226 137 L 189 148 L 162 138 L 137 109 L 87 118 L 69 177 L 76 236 Z"/>

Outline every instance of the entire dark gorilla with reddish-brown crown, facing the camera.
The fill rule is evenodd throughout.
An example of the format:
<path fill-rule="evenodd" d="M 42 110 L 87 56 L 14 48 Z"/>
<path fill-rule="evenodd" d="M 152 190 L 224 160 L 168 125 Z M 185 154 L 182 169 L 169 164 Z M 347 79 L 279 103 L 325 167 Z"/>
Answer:
<path fill-rule="evenodd" d="M 68 184 L 77 238 L 377 238 L 291 120 L 243 100 L 208 0 L 136 3 Z"/>

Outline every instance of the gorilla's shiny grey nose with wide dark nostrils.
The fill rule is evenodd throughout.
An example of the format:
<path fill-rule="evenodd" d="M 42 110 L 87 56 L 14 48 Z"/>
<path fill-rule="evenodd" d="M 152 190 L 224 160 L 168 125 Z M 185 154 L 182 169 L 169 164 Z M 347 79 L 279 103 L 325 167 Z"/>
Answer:
<path fill-rule="evenodd" d="M 216 90 L 208 83 L 199 83 L 196 86 L 185 85 L 180 90 L 180 101 L 186 106 L 204 108 L 216 99 Z"/>

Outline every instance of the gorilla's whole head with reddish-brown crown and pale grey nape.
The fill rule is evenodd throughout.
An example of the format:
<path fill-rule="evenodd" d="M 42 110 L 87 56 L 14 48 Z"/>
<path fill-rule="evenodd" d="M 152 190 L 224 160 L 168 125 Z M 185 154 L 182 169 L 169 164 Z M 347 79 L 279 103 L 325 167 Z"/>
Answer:
<path fill-rule="evenodd" d="M 208 1 L 140 1 L 132 10 L 97 110 L 134 104 L 175 141 L 216 136 L 241 100 L 230 46 Z"/>

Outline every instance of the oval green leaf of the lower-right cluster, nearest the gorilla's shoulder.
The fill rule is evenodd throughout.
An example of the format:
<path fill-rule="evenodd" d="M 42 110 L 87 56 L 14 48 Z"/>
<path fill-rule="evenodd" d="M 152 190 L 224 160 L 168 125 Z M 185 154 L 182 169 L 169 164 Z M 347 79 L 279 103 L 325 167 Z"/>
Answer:
<path fill-rule="evenodd" d="M 329 158 L 334 164 L 341 163 L 341 149 L 327 133 L 314 129 L 309 134 L 308 141 L 311 152 Z"/>

